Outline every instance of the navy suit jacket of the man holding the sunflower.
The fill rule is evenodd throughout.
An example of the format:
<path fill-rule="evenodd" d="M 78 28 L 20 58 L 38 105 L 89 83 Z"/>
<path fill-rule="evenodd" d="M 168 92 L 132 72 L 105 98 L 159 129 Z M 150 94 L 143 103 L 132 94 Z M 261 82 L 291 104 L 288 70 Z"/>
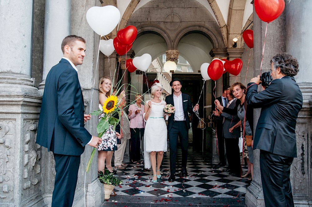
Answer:
<path fill-rule="evenodd" d="M 46 77 L 36 143 L 56 154 L 81 155 L 91 137 L 84 128 L 78 74 L 66 59 L 61 59 Z"/>

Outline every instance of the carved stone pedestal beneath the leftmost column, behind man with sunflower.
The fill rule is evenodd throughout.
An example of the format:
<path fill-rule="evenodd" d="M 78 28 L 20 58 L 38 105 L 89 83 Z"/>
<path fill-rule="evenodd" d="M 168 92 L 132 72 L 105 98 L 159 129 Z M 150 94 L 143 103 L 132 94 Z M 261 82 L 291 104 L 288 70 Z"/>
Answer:
<path fill-rule="evenodd" d="M 0 206 L 44 206 L 40 106 L 29 76 L 0 73 Z"/>

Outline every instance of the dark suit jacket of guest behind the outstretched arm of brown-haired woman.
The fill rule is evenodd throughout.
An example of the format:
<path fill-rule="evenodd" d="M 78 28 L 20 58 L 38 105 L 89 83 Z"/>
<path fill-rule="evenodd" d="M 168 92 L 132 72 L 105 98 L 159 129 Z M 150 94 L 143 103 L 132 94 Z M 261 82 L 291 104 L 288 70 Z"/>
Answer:
<path fill-rule="evenodd" d="M 227 108 L 234 109 L 235 105 L 236 105 L 236 100 L 232 101 L 232 103 Z M 224 123 L 223 123 L 223 136 L 224 136 L 224 138 L 237 138 L 237 137 L 241 136 L 241 127 L 237 127 L 235 129 L 233 129 L 232 133 L 229 132 L 229 129 L 232 126 L 236 125 L 237 122 L 240 121 L 240 119 L 238 118 L 237 115 L 233 116 L 233 115 L 229 115 L 229 114 L 223 112 L 220 117 L 222 117 L 222 120 L 224 117 Z"/>

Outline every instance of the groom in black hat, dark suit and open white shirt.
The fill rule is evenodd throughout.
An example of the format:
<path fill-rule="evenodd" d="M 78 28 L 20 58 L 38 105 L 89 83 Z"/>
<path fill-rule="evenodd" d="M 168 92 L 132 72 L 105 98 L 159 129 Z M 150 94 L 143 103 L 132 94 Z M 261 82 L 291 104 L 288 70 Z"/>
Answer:
<path fill-rule="evenodd" d="M 176 158 L 178 137 L 180 138 L 182 149 L 182 176 L 187 176 L 186 163 L 188 161 L 188 130 L 190 120 L 188 113 L 198 110 L 199 105 L 192 107 L 191 98 L 188 94 L 181 92 L 182 81 L 173 79 L 170 82 L 173 88 L 173 94 L 166 96 L 166 104 L 172 104 L 175 107 L 175 113 L 168 117 L 168 135 L 170 149 L 170 177 L 168 181 L 175 181 Z"/>

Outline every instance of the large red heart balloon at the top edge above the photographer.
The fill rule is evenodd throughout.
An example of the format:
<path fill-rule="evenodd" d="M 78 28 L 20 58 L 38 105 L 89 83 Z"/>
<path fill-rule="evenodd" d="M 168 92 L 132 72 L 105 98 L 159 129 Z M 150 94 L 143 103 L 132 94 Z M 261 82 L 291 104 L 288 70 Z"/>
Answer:
<path fill-rule="evenodd" d="M 284 11 L 284 0 L 255 0 L 255 11 L 262 21 L 270 23 Z"/>

